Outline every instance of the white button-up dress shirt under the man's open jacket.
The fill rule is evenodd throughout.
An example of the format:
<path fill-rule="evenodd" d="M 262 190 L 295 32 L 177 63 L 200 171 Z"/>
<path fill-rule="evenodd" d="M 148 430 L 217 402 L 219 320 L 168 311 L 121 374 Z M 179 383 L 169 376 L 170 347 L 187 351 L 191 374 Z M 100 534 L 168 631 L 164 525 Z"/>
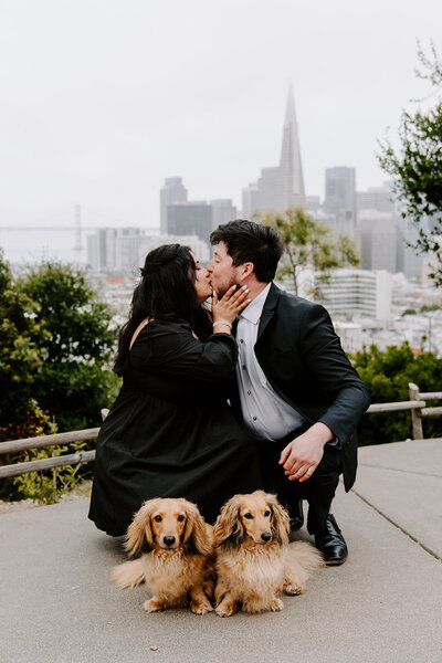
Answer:
<path fill-rule="evenodd" d="M 236 377 L 245 424 L 262 438 L 281 440 L 299 428 L 304 419 L 267 382 L 254 352 L 260 318 L 270 286 L 269 283 L 239 315 Z"/>

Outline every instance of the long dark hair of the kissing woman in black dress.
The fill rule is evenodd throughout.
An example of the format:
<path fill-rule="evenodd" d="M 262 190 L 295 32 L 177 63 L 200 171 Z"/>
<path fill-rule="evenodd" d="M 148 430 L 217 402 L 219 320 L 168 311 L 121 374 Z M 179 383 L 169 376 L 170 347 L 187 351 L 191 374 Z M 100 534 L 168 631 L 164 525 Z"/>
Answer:
<path fill-rule="evenodd" d="M 114 364 L 118 376 L 127 361 L 134 332 L 146 318 L 185 319 L 199 338 L 211 333 L 209 316 L 198 301 L 194 281 L 194 260 L 189 246 L 164 244 L 149 251 L 141 280 L 131 297 L 129 319 L 118 336 Z"/>

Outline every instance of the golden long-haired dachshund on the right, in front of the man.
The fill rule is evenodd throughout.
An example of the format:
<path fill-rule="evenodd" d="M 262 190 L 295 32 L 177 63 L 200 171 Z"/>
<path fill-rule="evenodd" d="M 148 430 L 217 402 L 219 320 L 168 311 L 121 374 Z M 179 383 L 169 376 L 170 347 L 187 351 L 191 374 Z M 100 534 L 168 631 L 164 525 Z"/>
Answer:
<path fill-rule="evenodd" d="M 220 617 L 277 611 L 277 593 L 298 594 L 308 571 L 323 566 L 311 544 L 288 546 L 288 514 L 274 495 L 255 491 L 235 495 L 214 524 L 217 548 L 215 611 Z"/>

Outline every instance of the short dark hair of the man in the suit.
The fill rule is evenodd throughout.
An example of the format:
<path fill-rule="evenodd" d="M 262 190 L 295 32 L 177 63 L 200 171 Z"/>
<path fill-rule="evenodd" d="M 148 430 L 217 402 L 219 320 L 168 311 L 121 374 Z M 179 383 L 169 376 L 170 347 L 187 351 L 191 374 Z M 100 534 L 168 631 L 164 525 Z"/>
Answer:
<path fill-rule="evenodd" d="M 234 267 L 252 262 L 257 281 L 273 281 L 283 254 L 278 234 L 269 225 L 238 220 L 219 225 L 210 235 L 212 244 L 224 242 Z"/>

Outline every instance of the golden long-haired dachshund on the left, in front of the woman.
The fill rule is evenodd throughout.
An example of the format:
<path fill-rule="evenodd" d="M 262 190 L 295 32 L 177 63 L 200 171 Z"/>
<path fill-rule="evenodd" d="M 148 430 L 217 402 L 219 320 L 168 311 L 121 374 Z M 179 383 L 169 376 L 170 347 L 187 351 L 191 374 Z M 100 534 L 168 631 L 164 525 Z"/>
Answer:
<path fill-rule="evenodd" d="M 190 604 L 196 614 L 213 610 L 213 528 L 183 498 L 148 499 L 129 525 L 125 549 L 138 559 L 113 568 L 119 588 L 146 582 L 148 612 Z"/>

